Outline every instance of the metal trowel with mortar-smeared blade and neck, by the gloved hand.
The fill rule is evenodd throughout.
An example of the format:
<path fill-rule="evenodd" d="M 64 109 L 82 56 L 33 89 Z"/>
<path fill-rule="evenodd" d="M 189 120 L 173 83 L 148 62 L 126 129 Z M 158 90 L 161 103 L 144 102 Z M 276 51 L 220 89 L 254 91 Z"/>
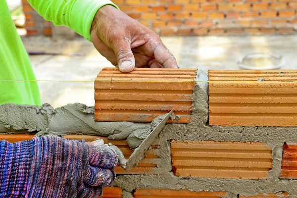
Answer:
<path fill-rule="evenodd" d="M 114 148 L 116 153 L 119 155 L 119 163 L 122 168 L 124 168 L 126 171 L 129 171 L 134 165 L 138 164 L 138 162 L 144 157 L 146 150 L 150 147 L 161 130 L 164 128 L 172 113 L 173 109 L 167 113 L 161 122 L 159 122 L 159 124 L 149 133 L 148 137 L 141 143 L 141 145 L 138 148 L 135 148 L 129 159 L 125 159 L 124 154 L 118 147 L 113 145 L 110 146 L 111 148 Z"/>

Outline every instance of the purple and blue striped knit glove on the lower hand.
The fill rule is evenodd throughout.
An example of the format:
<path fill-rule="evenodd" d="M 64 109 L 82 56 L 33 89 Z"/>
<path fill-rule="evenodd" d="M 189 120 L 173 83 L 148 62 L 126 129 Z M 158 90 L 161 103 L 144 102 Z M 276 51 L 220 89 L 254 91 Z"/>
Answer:
<path fill-rule="evenodd" d="M 97 198 L 115 177 L 115 151 L 57 136 L 0 142 L 1 198 Z"/>

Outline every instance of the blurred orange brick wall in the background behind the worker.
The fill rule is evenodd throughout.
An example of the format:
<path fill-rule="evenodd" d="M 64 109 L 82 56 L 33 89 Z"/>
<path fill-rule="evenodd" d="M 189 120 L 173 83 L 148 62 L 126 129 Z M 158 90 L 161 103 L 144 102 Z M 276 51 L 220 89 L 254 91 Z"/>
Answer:
<path fill-rule="evenodd" d="M 160 36 L 297 33 L 297 0 L 113 0 L 130 17 Z M 37 28 L 35 11 L 23 0 L 29 34 L 51 35 L 49 22 Z M 39 22 L 40 23 L 40 22 Z"/>

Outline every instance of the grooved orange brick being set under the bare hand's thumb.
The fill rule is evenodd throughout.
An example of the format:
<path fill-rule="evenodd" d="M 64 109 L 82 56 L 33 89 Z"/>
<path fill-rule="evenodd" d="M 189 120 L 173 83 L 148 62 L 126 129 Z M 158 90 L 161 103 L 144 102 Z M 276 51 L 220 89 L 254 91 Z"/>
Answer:
<path fill-rule="evenodd" d="M 189 123 L 197 69 L 103 68 L 95 82 L 96 121 L 151 122 L 174 108 Z"/>

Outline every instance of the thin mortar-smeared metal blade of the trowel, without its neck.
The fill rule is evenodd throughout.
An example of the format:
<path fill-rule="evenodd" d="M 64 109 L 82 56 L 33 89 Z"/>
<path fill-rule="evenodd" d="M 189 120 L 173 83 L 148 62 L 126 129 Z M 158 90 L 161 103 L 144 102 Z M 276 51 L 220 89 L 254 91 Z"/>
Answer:
<path fill-rule="evenodd" d="M 129 171 L 134 164 L 137 164 L 144 156 L 146 150 L 150 147 L 153 141 L 157 138 L 163 127 L 165 126 L 167 120 L 169 119 L 170 115 L 173 113 L 172 109 L 165 118 L 150 132 L 148 137 L 141 143 L 141 145 L 134 150 L 132 155 L 129 157 L 125 170 Z"/>

